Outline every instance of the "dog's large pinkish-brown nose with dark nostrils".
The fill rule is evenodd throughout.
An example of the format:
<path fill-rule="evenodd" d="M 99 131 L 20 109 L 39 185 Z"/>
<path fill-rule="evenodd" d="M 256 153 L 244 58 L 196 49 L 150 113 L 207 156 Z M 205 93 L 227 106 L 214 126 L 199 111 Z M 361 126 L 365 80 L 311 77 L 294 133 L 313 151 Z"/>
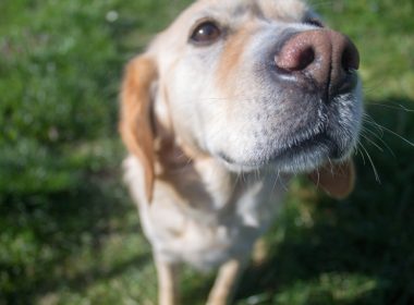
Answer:
<path fill-rule="evenodd" d="M 309 77 L 331 96 L 349 87 L 353 70 L 360 66 L 355 45 L 344 35 L 327 29 L 307 30 L 292 36 L 276 54 L 280 73 L 294 74 L 299 81 Z"/>

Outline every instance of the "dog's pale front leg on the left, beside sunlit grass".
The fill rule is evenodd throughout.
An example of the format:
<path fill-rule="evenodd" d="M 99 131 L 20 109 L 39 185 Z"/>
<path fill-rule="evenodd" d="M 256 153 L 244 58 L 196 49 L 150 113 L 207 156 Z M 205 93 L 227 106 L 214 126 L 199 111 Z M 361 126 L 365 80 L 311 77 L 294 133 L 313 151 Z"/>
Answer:
<path fill-rule="evenodd" d="M 179 266 L 156 259 L 158 273 L 158 304 L 178 305 L 179 301 Z"/>

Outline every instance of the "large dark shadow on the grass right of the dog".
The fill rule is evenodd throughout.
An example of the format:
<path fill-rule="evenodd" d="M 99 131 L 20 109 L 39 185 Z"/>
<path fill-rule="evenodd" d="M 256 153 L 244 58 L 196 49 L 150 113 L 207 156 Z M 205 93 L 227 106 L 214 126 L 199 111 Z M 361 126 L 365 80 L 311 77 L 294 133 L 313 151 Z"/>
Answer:
<path fill-rule="evenodd" d="M 413 109 L 414 101 L 390 98 L 367 105 L 367 113 L 378 124 L 414 142 L 414 113 L 402 109 Z M 365 125 L 381 137 L 377 126 Z M 350 198 L 336 203 L 321 197 L 310 203 L 313 224 L 308 227 L 295 225 L 297 211 L 289 212 L 288 206 L 282 224 L 275 229 L 285 231 L 282 242 L 270 251 L 264 265 L 247 270 L 239 300 L 265 293 L 266 301 L 255 304 L 279 304 L 275 295 L 282 290 L 301 281 L 320 283 L 327 274 L 337 274 L 351 278 L 351 283 L 342 282 L 339 289 L 354 289 L 353 296 L 334 300 L 332 286 L 324 290 L 319 285 L 300 304 L 414 304 L 414 149 L 385 131 L 382 139 L 391 152 L 370 132 L 365 134 L 370 139 L 363 139 L 363 145 L 380 183 L 367 156 L 360 152 L 355 157 L 356 190 Z M 353 284 L 355 278 L 372 279 L 370 289 L 364 291 L 357 281 Z"/>

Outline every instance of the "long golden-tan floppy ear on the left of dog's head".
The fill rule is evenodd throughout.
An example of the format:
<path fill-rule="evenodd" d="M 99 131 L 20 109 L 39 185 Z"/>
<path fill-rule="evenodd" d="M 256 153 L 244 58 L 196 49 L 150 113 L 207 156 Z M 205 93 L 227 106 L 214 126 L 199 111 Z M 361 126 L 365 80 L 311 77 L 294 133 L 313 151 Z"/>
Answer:
<path fill-rule="evenodd" d="M 156 64 L 148 56 L 133 59 L 126 66 L 121 91 L 120 133 L 126 148 L 144 167 L 148 202 L 154 188 L 154 132 L 151 126 L 151 85 L 157 80 Z"/>

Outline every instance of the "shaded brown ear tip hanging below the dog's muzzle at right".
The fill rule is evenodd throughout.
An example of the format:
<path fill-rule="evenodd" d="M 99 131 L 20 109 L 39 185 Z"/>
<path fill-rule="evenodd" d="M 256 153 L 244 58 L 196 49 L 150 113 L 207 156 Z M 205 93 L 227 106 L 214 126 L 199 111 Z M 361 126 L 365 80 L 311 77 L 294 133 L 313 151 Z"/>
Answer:
<path fill-rule="evenodd" d="M 342 163 L 326 164 L 310 173 L 309 179 L 329 196 L 343 199 L 355 185 L 355 167 L 352 159 Z"/>

